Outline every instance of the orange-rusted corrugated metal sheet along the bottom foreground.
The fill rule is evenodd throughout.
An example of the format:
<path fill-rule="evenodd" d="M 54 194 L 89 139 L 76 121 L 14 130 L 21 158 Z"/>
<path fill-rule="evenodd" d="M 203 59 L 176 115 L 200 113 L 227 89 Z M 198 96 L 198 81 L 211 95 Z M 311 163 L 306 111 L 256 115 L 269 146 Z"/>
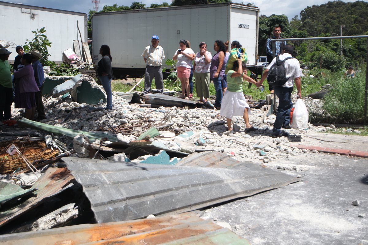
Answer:
<path fill-rule="evenodd" d="M 0 244 L 250 245 L 229 229 L 191 213 L 7 234 L 0 236 Z"/>

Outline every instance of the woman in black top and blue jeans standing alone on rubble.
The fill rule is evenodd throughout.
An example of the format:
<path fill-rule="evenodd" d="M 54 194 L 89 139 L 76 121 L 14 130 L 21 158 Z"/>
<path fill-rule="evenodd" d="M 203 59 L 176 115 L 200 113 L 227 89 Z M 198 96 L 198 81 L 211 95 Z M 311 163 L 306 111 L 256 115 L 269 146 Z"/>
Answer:
<path fill-rule="evenodd" d="M 103 89 L 105 89 L 107 96 L 107 105 L 106 109 L 112 109 L 113 104 L 113 95 L 111 91 L 111 80 L 113 79 L 113 69 L 111 66 L 112 57 L 110 55 L 110 47 L 107 45 L 102 45 L 100 48 L 100 54 L 102 55 L 102 59 L 98 62 L 97 73 L 98 77 L 101 80 Z"/>

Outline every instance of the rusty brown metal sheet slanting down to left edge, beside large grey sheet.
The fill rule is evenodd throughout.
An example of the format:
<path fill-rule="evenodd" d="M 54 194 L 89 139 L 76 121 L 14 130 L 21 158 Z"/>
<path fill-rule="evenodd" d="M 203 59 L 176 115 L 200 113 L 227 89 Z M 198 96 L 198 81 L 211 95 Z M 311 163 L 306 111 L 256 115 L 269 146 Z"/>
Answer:
<path fill-rule="evenodd" d="M 45 174 L 43 174 L 31 187 L 37 189 L 37 191 L 33 192 L 37 195 L 36 197 L 31 197 L 12 209 L 0 212 L 0 227 L 17 218 L 18 216 L 28 212 L 30 209 L 40 205 L 45 198 L 58 194 L 73 180 L 74 177 L 65 167 L 58 169 L 47 169 Z"/>

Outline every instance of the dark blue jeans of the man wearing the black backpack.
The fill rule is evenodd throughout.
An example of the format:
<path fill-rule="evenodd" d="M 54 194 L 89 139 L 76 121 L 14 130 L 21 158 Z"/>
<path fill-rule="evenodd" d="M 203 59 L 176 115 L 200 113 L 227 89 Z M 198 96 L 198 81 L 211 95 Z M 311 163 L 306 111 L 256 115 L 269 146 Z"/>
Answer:
<path fill-rule="evenodd" d="M 281 127 L 283 125 L 290 124 L 290 111 L 293 108 L 293 103 L 291 102 L 293 87 L 274 87 L 273 89 L 276 96 L 279 97 L 279 107 L 277 108 L 272 134 L 278 135 L 281 133 Z"/>

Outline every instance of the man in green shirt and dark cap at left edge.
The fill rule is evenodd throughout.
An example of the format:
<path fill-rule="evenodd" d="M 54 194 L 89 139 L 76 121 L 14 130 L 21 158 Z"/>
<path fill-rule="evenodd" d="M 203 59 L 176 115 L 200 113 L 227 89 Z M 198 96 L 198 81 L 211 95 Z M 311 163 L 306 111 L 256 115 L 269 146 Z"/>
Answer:
<path fill-rule="evenodd" d="M 0 121 L 10 119 L 10 106 L 13 103 L 13 82 L 11 66 L 8 62 L 11 54 L 6 48 L 0 48 Z"/>

